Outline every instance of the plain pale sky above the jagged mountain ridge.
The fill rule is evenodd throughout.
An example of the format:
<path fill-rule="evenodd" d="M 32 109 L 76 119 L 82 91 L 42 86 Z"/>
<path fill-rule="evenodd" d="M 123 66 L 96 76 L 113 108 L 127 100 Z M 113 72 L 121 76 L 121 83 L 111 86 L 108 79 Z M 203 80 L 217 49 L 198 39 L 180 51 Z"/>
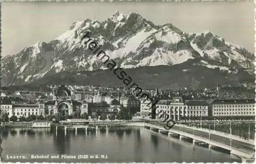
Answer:
<path fill-rule="evenodd" d="M 76 20 L 102 21 L 116 10 L 124 14 L 137 12 L 155 24 L 171 22 L 185 32 L 209 30 L 254 52 L 253 2 L 4 2 L 2 56 L 38 41 L 51 41 L 69 30 Z"/>

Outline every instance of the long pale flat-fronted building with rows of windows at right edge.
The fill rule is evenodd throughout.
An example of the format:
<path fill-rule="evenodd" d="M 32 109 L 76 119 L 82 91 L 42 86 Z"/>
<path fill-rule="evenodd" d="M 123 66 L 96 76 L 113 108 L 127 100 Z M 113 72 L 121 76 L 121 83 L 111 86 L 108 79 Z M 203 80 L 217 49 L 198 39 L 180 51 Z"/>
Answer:
<path fill-rule="evenodd" d="M 217 99 L 210 105 L 212 116 L 255 116 L 254 99 Z"/>

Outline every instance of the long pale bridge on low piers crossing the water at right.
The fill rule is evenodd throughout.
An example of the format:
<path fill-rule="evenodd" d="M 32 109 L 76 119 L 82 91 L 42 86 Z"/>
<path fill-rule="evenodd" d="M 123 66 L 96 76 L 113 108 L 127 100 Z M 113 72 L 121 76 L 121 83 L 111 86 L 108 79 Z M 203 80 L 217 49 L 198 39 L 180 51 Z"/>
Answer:
<path fill-rule="evenodd" d="M 193 144 L 199 142 L 205 143 L 208 145 L 209 149 L 212 147 L 219 147 L 229 150 L 230 154 L 240 157 L 243 162 L 254 161 L 254 142 L 223 134 L 223 132 L 212 132 L 212 130 L 206 132 L 201 129 L 182 125 L 175 125 L 173 128 L 166 130 L 160 124 L 145 122 L 130 123 L 130 125 L 148 127 L 152 130 L 157 130 L 158 132 L 167 132 L 168 136 L 178 135 L 180 140 L 182 140 L 182 138 L 190 138 L 193 139 Z"/>

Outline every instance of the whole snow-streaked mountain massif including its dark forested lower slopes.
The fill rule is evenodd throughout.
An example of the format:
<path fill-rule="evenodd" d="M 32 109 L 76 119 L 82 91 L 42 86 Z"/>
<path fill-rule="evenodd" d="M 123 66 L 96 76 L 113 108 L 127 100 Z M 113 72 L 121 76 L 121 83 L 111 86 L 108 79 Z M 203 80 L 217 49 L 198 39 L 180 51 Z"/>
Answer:
<path fill-rule="evenodd" d="M 210 31 L 185 33 L 138 13 L 116 11 L 104 21 L 76 21 L 50 42 L 37 42 L 1 59 L 1 84 L 122 85 L 80 40 L 87 33 L 142 87 L 194 89 L 254 86 L 254 53 Z"/>

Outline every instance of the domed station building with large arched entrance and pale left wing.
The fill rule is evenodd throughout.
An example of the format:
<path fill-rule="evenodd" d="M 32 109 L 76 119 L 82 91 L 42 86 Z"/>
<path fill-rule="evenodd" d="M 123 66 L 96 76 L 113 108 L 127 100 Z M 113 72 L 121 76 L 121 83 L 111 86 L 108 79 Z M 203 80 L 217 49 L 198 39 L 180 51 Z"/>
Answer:
<path fill-rule="evenodd" d="M 29 115 L 44 116 L 61 113 L 62 115 L 71 115 L 73 112 L 80 112 L 81 114 L 88 113 L 87 101 L 76 101 L 71 97 L 71 91 L 64 85 L 59 86 L 53 94 L 52 100 L 47 102 L 37 102 L 35 104 L 12 103 L 9 98 L 3 98 L 0 104 L 1 113 L 7 113 L 9 118 L 11 116 L 28 117 Z"/>

